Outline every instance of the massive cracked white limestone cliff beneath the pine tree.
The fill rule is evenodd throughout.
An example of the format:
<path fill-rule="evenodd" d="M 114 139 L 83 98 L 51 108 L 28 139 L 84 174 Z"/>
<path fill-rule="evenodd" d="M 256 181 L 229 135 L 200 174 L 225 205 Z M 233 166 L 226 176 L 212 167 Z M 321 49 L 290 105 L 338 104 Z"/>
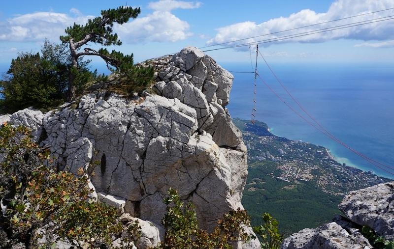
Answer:
<path fill-rule="evenodd" d="M 158 69 L 158 95 L 134 101 L 102 90 L 46 114 L 26 109 L 0 119 L 33 128 L 61 169 L 100 160 L 92 183 L 119 214 L 160 226 L 172 187 L 194 203 L 201 228 L 212 230 L 242 208 L 247 178 L 246 146 L 225 108 L 233 76 L 193 47 L 149 63 Z"/>

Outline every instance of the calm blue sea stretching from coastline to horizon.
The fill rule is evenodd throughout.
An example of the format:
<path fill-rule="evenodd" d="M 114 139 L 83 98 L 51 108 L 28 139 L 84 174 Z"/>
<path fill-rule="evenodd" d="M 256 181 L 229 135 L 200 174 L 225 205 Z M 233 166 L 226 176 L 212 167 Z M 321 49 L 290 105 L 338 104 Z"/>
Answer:
<path fill-rule="evenodd" d="M 250 62 L 219 64 L 229 71 L 254 71 Z M 105 70 L 102 64 L 98 66 L 99 73 Z M 270 66 L 298 103 L 331 134 L 361 154 L 394 168 L 394 63 L 289 62 Z M 9 64 L 0 64 L 0 72 L 8 68 Z M 307 117 L 263 62 L 259 62 L 258 72 L 286 103 Z M 251 119 L 254 74 L 232 74 L 227 108 L 233 118 Z M 331 140 L 289 109 L 259 78 L 256 83 L 256 119 L 265 122 L 273 134 L 325 146 L 340 163 L 394 179 L 393 169 L 380 169 Z"/>

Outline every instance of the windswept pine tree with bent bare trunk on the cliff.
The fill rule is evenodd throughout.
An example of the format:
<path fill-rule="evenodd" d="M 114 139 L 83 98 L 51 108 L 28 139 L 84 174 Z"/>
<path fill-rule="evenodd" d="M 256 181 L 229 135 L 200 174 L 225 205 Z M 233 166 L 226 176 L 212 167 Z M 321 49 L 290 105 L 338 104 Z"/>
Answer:
<path fill-rule="evenodd" d="M 114 23 L 120 25 L 127 23 L 130 18 L 136 18 L 140 14 L 140 8 L 123 7 L 116 9 L 101 10 L 101 16 L 95 19 L 89 19 L 85 26 L 77 25 L 68 27 L 66 36 L 60 36 L 63 43 L 68 43 L 71 52 L 72 68 L 68 79 L 68 94 L 66 101 L 70 101 L 75 95 L 74 80 L 78 75 L 78 57 L 83 55 L 100 56 L 107 63 L 107 67 L 114 67 L 116 70 L 125 74 L 133 83 L 147 84 L 153 76 L 153 68 L 137 68 L 133 65 L 133 54 L 123 55 L 120 52 L 112 51 L 109 53 L 106 49 L 100 48 L 98 51 L 91 48 L 84 48 L 83 52 L 78 49 L 89 42 L 101 44 L 103 46 L 122 45 L 118 40 L 118 35 L 113 34 L 112 27 Z M 142 80 L 139 80 L 141 78 Z M 146 80 L 149 79 L 149 80 Z"/>

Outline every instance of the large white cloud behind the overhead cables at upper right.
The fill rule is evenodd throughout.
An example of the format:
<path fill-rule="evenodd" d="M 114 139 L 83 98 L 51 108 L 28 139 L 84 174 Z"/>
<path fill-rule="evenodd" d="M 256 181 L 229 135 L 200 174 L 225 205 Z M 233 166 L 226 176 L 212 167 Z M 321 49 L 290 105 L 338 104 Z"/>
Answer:
<path fill-rule="evenodd" d="M 231 42 L 226 46 L 247 44 L 258 41 L 267 41 L 267 39 L 275 39 L 281 36 L 294 35 L 302 32 L 330 28 L 334 26 L 346 25 L 349 23 L 356 23 L 365 20 L 376 19 L 384 16 L 394 15 L 394 10 L 388 10 L 383 12 L 377 12 L 373 14 L 363 15 L 351 19 L 345 19 L 337 22 L 329 22 L 318 26 L 295 29 L 287 32 L 280 32 L 271 35 L 270 34 L 282 30 L 288 30 L 298 27 L 304 27 L 308 25 L 314 25 L 318 23 L 324 23 L 331 20 L 346 18 L 349 16 L 355 16 L 363 13 L 388 9 L 394 7 L 393 0 L 336 0 L 333 2 L 328 9 L 327 13 L 316 13 L 313 10 L 304 9 L 297 13 L 291 14 L 289 17 L 279 17 L 271 19 L 267 22 L 256 24 L 254 22 L 243 22 L 236 23 L 230 26 L 222 27 L 217 29 L 216 36 L 207 42 L 207 45 L 220 44 L 225 42 L 236 41 L 244 39 L 246 37 L 260 36 L 256 38 L 250 38 L 238 42 Z M 321 32 L 306 36 L 299 36 L 292 39 L 284 39 L 282 41 L 263 43 L 262 45 L 268 47 L 273 43 L 283 42 L 303 42 L 303 43 L 317 43 L 325 42 L 332 39 L 357 39 L 357 40 L 387 40 L 394 39 L 394 20 L 385 22 L 376 22 L 372 24 L 356 26 L 352 28 L 337 29 L 328 32 Z M 242 48 L 241 48 L 242 49 Z M 244 48 L 248 49 L 248 48 Z"/>

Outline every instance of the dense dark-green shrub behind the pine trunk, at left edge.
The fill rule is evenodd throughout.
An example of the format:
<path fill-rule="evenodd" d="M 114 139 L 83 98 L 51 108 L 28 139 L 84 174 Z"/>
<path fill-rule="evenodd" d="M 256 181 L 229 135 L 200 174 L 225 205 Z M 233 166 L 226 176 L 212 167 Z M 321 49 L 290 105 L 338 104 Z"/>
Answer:
<path fill-rule="evenodd" d="M 75 68 L 77 89 L 96 78 L 89 71 L 90 61 Z M 0 81 L 0 113 L 13 113 L 28 107 L 48 110 L 64 101 L 68 85 L 71 55 L 65 45 L 45 41 L 39 53 L 19 53 Z"/>

